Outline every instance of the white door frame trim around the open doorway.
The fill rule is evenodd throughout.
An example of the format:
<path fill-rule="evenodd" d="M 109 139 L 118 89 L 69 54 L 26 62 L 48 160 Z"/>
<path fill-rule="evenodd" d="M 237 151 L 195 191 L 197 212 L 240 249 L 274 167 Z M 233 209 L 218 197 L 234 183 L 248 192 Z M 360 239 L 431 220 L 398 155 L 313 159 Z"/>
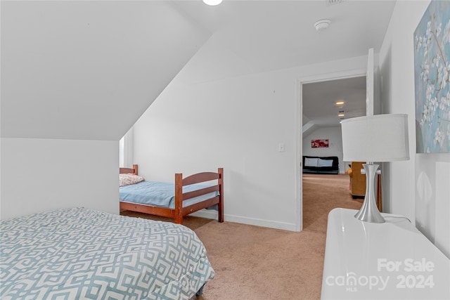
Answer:
<path fill-rule="evenodd" d="M 303 230 L 303 174 L 302 174 L 302 157 L 303 157 L 303 131 L 302 131 L 302 120 L 303 120 L 303 84 L 311 84 L 314 82 L 330 81 L 336 79 L 347 79 L 353 77 L 366 77 L 366 68 L 359 68 L 354 70 L 347 70 L 342 72 L 324 73 L 317 74 L 307 77 L 297 78 L 297 113 L 296 113 L 296 164 L 295 164 L 295 183 L 296 183 L 296 215 L 299 218 L 295 222 L 295 230 Z"/>

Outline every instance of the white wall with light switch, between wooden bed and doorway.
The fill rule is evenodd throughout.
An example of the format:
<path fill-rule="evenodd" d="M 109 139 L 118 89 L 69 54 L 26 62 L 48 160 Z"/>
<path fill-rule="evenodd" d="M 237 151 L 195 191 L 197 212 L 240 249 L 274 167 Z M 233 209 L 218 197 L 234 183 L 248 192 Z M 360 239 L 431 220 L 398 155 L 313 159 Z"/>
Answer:
<path fill-rule="evenodd" d="M 183 71 L 134 126 L 134 162 L 148 179 L 173 181 L 224 167 L 225 219 L 295 230 L 297 79 L 366 69 L 366 56 L 198 84 Z M 298 117 L 298 118 L 297 118 Z M 285 152 L 278 152 L 278 144 Z M 299 143 L 300 144 L 300 143 Z"/>

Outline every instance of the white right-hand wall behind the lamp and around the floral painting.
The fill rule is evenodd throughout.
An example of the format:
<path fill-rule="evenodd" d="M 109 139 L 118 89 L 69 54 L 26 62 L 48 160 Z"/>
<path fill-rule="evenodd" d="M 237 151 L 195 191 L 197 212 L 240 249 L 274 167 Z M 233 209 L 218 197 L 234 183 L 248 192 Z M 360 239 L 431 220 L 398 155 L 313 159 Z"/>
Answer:
<path fill-rule="evenodd" d="M 416 226 L 450 257 L 450 153 L 416 155 L 413 32 L 429 1 L 397 1 L 380 51 L 383 112 L 409 115 L 407 162 L 384 166 L 383 207 Z"/>

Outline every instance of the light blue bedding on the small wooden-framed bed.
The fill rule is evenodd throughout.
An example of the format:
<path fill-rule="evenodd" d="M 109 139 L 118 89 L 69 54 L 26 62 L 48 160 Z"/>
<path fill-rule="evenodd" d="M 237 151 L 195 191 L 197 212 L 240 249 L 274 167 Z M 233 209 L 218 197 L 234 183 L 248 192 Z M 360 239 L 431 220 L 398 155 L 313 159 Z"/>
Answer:
<path fill-rule="evenodd" d="M 186 185 L 183 193 L 207 188 L 207 185 Z M 219 195 L 219 192 L 208 193 L 193 197 L 183 202 L 183 207 L 202 202 Z M 120 187 L 120 201 L 152 205 L 154 207 L 175 208 L 175 185 L 174 183 L 162 183 L 158 181 L 141 181 L 140 183 Z"/>

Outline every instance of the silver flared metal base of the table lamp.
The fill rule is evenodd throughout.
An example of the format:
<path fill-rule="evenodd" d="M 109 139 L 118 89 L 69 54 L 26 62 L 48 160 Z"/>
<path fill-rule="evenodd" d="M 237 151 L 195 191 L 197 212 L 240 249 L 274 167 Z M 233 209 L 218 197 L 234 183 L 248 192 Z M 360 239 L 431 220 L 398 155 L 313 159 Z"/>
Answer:
<path fill-rule="evenodd" d="M 368 223 L 385 223 L 385 218 L 380 214 L 375 202 L 375 176 L 378 164 L 363 164 L 366 171 L 366 196 L 359 211 L 354 217 L 360 221 Z"/>

